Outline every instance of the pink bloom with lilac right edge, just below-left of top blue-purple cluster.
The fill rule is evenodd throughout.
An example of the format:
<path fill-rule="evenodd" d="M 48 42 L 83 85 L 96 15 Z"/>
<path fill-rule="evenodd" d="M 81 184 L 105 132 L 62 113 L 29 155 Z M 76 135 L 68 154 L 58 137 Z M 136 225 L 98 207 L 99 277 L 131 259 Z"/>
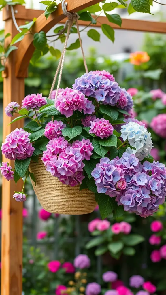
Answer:
<path fill-rule="evenodd" d="M 55 107 L 66 118 L 71 117 L 76 110 L 79 112 L 83 110 L 84 114 L 92 114 L 95 111 L 92 101 L 89 101 L 82 92 L 68 87 L 58 94 Z"/>

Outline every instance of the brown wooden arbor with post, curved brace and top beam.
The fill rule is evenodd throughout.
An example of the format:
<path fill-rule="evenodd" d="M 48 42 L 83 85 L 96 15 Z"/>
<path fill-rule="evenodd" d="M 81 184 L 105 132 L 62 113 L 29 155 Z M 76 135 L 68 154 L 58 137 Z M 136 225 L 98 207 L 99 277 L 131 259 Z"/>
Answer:
<path fill-rule="evenodd" d="M 77 12 L 88 6 L 98 3 L 98 0 L 67 0 L 67 9 L 69 12 Z M 65 16 L 61 9 L 61 4 L 53 12 L 48 20 L 40 10 L 25 9 L 25 6 L 14 6 L 15 17 L 18 25 L 25 24 L 34 17 L 38 17 L 33 32 L 43 30 L 48 32 L 55 24 L 65 22 Z M 11 33 L 7 42 L 11 42 L 17 30 L 12 21 L 12 15 L 7 6 L 3 11 L 3 20 L 5 21 L 5 35 Z M 96 24 L 109 23 L 105 17 L 99 17 Z M 87 24 L 79 21 L 79 24 Z M 143 32 L 166 33 L 166 23 L 147 22 L 139 20 L 123 19 L 122 27 L 112 24 L 113 28 L 123 30 L 136 30 Z M 6 44 L 7 45 L 7 44 Z M 34 51 L 32 35 L 26 35 L 19 43 L 18 50 L 12 52 L 6 63 L 4 77 L 4 108 L 9 102 L 17 101 L 21 104 L 24 98 L 24 78 L 27 76 L 27 68 Z M 23 121 L 17 121 L 12 125 L 11 118 L 4 115 L 3 120 L 3 141 L 11 131 L 23 127 Z M 5 159 L 4 159 L 5 161 Z M 12 164 L 11 164 L 12 165 Z M 22 294 L 22 203 L 17 203 L 13 199 L 14 191 L 21 191 L 22 183 L 14 181 L 8 182 L 3 178 L 2 183 L 2 251 L 1 251 L 1 295 L 21 295 Z"/>

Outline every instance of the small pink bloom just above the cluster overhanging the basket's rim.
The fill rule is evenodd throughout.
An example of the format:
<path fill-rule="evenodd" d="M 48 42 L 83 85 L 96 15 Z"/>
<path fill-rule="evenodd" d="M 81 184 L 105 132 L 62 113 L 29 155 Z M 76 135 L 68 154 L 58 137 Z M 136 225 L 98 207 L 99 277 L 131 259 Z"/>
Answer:
<path fill-rule="evenodd" d="M 47 123 L 45 126 L 45 132 L 44 135 L 47 137 L 49 140 L 53 140 L 54 138 L 62 135 L 62 129 L 66 127 L 66 124 L 63 124 L 62 121 L 50 121 Z"/>

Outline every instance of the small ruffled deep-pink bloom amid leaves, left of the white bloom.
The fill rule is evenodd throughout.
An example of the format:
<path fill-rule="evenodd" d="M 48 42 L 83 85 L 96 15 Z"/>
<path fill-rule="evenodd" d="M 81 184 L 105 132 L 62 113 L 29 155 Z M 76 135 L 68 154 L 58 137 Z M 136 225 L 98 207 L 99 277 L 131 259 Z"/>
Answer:
<path fill-rule="evenodd" d="M 90 122 L 90 130 L 89 133 L 94 133 L 96 136 L 100 138 L 109 137 L 113 134 L 113 125 L 109 123 L 109 120 L 105 120 L 104 118 L 97 118 L 95 122 Z"/>

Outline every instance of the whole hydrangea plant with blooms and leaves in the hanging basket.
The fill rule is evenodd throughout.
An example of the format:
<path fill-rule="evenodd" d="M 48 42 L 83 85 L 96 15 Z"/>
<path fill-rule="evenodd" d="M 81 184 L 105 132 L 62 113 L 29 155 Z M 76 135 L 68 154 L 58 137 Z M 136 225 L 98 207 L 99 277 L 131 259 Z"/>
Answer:
<path fill-rule="evenodd" d="M 66 185 L 80 185 L 95 193 L 104 219 L 124 210 L 141 217 L 157 211 L 166 196 L 166 168 L 149 155 L 151 134 L 134 118 L 133 99 L 110 73 L 90 71 L 75 80 L 73 88 L 55 91 L 51 99 L 30 94 L 5 109 L 19 113 L 12 122 L 28 117 L 24 129 L 12 131 L 2 144 L 2 153 L 15 161 L 12 169 L 3 163 L 7 180 L 24 178 L 17 201 L 24 201 L 30 161 L 40 157 L 50 175 Z M 11 123 L 12 123 L 11 122 Z M 13 173 L 14 170 L 14 173 Z"/>

